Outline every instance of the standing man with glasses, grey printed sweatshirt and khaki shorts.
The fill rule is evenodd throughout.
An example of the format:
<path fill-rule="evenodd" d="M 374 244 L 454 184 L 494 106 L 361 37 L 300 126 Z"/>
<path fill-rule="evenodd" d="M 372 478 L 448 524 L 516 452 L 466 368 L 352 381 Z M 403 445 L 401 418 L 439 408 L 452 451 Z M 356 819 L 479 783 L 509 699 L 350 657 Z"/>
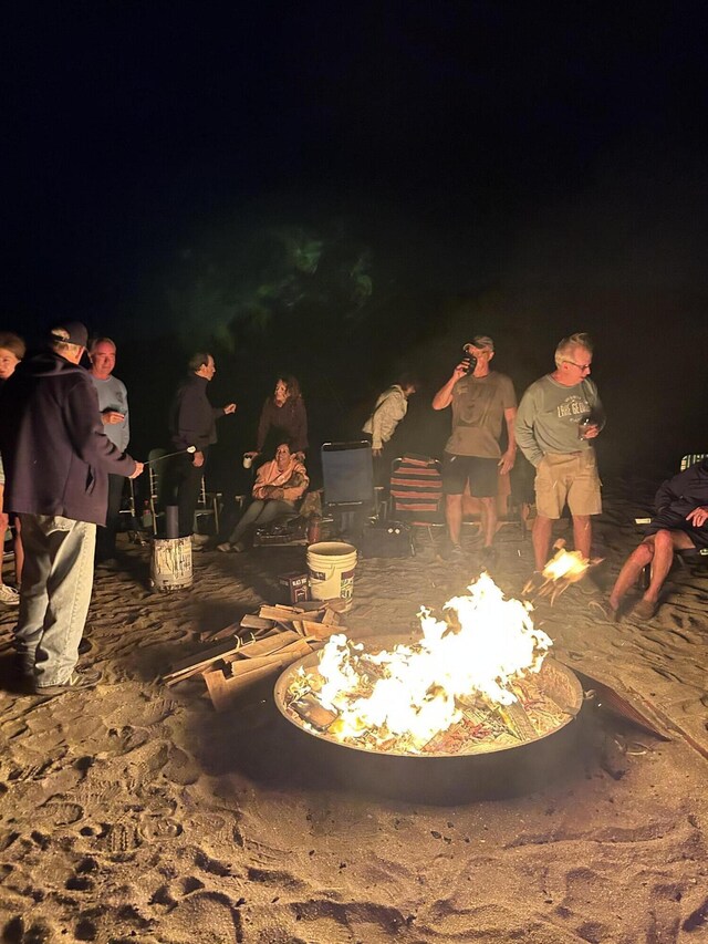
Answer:
<path fill-rule="evenodd" d="M 568 501 L 575 550 L 590 558 L 592 516 L 602 511 L 600 477 L 592 445 L 604 426 L 597 387 L 590 380 L 593 342 L 584 333 L 555 349 L 555 371 L 532 383 L 519 404 L 517 443 L 534 466 L 535 569 L 549 558 L 553 521 Z"/>

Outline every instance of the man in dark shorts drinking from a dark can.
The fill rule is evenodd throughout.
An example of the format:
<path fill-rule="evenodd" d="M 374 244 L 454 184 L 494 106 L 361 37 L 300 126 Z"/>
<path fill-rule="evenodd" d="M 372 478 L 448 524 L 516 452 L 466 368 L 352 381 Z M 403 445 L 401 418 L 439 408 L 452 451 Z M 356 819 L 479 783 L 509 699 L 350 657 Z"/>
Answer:
<path fill-rule="evenodd" d="M 462 496 L 469 483 L 470 495 L 481 502 L 482 560 L 493 563 L 498 476 L 509 475 L 517 455 L 513 432 L 517 395 L 510 377 L 489 370 L 489 362 L 494 356 L 491 338 L 477 334 L 464 350 L 467 356 L 433 397 L 434 409 L 452 407 L 452 433 L 442 459 L 445 518 L 452 554 L 460 557 Z M 508 445 L 502 455 L 499 439 L 503 424 Z"/>

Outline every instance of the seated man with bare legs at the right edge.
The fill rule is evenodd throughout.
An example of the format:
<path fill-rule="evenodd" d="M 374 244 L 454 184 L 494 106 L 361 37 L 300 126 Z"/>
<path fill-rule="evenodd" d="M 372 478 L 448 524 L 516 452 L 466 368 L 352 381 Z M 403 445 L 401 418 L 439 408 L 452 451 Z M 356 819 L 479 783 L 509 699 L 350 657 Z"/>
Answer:
<path fill-rule="evenodd" d="M 632 612 L 641 620 L 652 619 L 675 551 L 708 548 L 708 459 L 667 479 L 656 492 L 654 505 L 656 515 L 647 537 L 629 554 L 612 588 L 610 609 L 615 616 L 627 590 L 650 564 L 649 585 Z"/>

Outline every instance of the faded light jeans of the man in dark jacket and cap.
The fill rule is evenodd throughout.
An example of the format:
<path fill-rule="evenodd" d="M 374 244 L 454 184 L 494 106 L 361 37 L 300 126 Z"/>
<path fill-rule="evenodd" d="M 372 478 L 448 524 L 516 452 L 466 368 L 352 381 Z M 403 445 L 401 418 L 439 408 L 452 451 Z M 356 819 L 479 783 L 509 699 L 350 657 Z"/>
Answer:
<path fill-rule="evenodd" d="M 93 589 L 96 526 L 20 515 L 24 568 L 14 647 L 38 687 L 63 685 L 79 662 Z"/>

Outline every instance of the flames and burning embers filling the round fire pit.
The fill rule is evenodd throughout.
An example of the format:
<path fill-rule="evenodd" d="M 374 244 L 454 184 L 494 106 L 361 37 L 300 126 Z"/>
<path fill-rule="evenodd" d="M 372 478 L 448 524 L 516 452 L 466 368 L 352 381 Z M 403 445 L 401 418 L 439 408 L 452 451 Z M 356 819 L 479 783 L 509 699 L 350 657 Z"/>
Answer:
<path fill-rule="evenodd" d="M 280 677 L 280 710 L 317 737 L 397 756 L 486 754 L 563 727 L 582 692 L 545 660 L 552 642 L 530 604 L 504 599 L 488 574 L 468 590 L 444 620 L 424 609 L 415 642 L 333 636 Z"/>

